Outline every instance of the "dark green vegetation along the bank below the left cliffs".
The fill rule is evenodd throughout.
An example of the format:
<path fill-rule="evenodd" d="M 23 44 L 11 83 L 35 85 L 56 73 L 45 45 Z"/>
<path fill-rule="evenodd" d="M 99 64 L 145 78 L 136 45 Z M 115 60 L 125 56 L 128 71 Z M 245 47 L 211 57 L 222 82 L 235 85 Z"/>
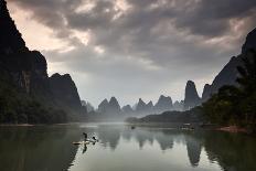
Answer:
<path fill-rule="evenodd" d="M 43 105 L 35 97 L 22 93 L 8 74 L 0 73 L 0 122 L 54 124 L 65 122 L 63 110 Z"/>

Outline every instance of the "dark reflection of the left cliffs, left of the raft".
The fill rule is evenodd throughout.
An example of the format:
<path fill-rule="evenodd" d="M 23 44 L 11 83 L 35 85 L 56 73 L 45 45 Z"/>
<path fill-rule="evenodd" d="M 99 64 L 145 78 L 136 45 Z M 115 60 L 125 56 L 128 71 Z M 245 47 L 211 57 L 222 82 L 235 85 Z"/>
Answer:
<path fill-rule="evenodd" d="M 0 128 L 0 170 L 65 170 L 76 154 L 75 139 L 76 131 L 63 127 Z"/>

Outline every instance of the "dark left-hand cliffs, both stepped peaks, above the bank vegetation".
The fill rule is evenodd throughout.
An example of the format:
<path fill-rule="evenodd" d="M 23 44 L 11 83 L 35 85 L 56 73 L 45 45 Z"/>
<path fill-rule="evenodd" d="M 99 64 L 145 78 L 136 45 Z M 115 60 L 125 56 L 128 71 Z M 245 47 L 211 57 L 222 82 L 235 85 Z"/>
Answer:
<path fill-rule="evenodd" d="M 0 74 L 11 78 L 19 92 L 35 97 L 44 105 L 72 109 L 82 107 L 71 76 L 56 74 L 49 78 L 45 57 L 25 46 L 4 0 L 0 0 Z"/>

